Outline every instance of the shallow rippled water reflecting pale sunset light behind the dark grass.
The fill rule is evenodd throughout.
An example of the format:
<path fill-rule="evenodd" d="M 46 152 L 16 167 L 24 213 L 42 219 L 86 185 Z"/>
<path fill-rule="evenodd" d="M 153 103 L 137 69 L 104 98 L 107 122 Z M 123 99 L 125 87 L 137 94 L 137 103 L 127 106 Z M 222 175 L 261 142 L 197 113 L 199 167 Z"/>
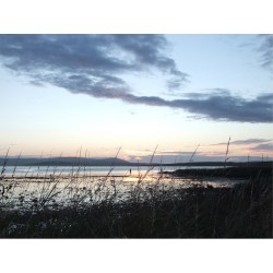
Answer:
<path fill-rule="evenodd" d="M 131 171 L 130 171 L 131 170 Z M 0 181 L 0 205 L 9 210 L 84 205 L 145 199 L 189 187 L 230 187 L 230 179 L 182 179 L 149 167 L 7 167 Z M 130 174 L 131 173 L 131 174 Z M 174 193 L 175 194 L 175 193 Z"/>

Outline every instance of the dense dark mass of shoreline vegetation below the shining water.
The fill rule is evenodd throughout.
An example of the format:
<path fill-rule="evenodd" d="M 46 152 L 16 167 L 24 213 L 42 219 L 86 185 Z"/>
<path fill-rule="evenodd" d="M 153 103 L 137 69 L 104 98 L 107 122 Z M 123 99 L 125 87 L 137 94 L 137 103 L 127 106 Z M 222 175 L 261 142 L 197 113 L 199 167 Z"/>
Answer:
<path fill-rule="evenodd" d="M 161 181 L 146 188 L 138 182 L 119 202 L 111 195 L 56 209 L 45 203 L 26 211 L 0 207 L 0 237 L 272 238 L 272 169 L 251 174 L 233 188 L 164 190 Z"/>

